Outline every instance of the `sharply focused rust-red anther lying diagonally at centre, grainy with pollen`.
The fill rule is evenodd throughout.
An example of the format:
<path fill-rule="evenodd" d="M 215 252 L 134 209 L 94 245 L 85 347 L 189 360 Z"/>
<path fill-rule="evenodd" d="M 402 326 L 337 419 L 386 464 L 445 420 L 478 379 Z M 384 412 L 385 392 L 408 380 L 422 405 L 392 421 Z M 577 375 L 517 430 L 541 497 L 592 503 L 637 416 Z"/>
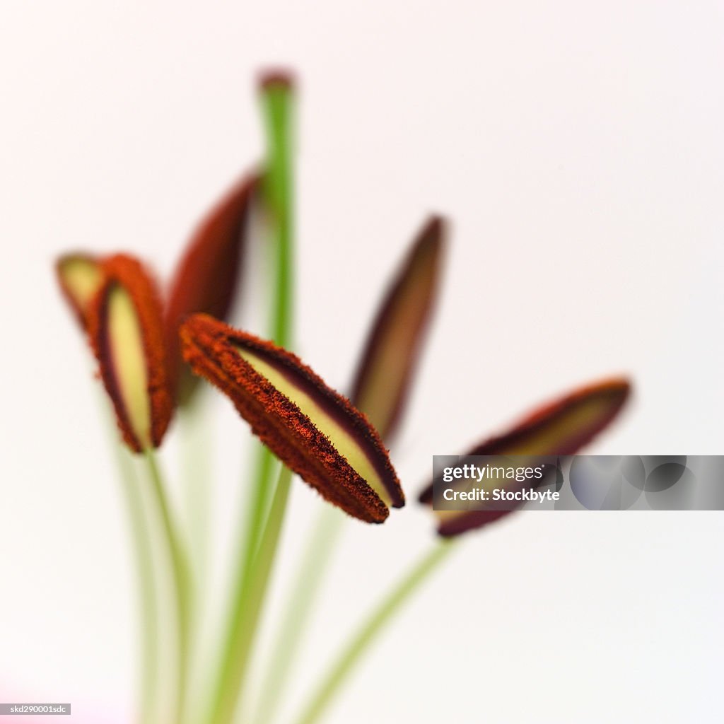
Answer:
<path fill-rule="evenodd" d="M 379 434 L 295 355 L 203 314 L 185 321 L 181 340 L 193 371 L 329 502 L 369 523 L 384 521 L 388 505 L 404 505 Z"/>

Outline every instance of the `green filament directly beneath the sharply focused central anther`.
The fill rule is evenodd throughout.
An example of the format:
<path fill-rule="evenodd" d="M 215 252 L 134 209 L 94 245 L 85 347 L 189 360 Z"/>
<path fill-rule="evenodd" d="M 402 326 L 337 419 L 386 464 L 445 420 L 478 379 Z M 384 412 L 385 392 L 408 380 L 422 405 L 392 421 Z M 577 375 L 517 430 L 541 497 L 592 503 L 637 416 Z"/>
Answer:
<path fill-rule="evenodd" d="M 282 467 L 258 552 L 245 576 L 243 586 L 237 589 L 232 625 L 225 642 L 219 687 L 211 715 L 214 724 L 231 722 L 243 699 L 246 670 L 276 557 L 291 480 L 292 472 L 289 468 Z"/>

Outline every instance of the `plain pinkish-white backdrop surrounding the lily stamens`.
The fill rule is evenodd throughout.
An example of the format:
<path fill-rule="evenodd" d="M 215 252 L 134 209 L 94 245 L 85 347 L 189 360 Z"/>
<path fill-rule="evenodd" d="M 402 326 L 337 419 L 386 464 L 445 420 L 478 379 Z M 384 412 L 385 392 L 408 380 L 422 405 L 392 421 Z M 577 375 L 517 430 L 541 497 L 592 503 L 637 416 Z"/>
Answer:
<path fill-rule="evenodd" d="M 433 540 L 414 502 L 433 453 L 620 372 L 636 398 L 592 450 L 723 452 L 723 12 L 5 0 L 0 698 L 130 720 L 130 543 L 92 366 L 51 265 L 70 249 L 127 249 L 167 278 L 199 216 L 260 157 L 266 64 L 300 77 L 297 347 L 330 384 L 348 383 L 424 216 L 453 224 L 393 455 L 408 508 L 346 529 L 285 711 Z M 216 415 L 214 494 L 228 512 L 248 430 L 223 400 Z M 277 583 L 316 508 L 300 483 L 292 502 Z M 220 512 L 219 528 L 232 518 Z M 723 542 L 716 513 L 511 516 L 468 537 L 329 721 L 717 720 Z"/>

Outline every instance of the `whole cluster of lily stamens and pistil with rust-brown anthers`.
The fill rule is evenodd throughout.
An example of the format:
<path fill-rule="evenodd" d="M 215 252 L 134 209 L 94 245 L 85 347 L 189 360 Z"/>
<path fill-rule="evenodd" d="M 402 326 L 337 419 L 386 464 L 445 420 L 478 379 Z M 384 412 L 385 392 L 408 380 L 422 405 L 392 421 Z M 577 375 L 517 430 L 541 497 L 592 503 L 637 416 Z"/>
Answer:
<path fill-rule="evenodd" d="M 390 508 L 405 504 L 403 488 L 383 441 L 394 437 L 402 420 L 432 318 L 445 250 L 446 224 L 433 216 L 413 241 L 384 295 L 363 348 L 350 400 L 332 390 L 282 346 L 225 324 L 243 266 L 251 205 L 263 185 L 277 247 L 277 299 L 271 334 L 285 345 L 291 338 L 293 83 L 285 74 L 272 74 L 265 77 L 262 88 L 269 132 L 264 183 L 258 173 L 240 180 L 203 219 L 165 298 L 145 266 L 127 254 L 96 257 L 75 253 L 56 265 L 62 292 L 96 355 L 99 376 L 111 397 L 122 437 L 134 452 L 148 453 L 149 480 L 160 513 L 157 522 L 166 539 L 166 563 L 176 602 L 177 691 L 172 693 L 177 696 L 169 718 L 174 723 L 188 719 L 184 716 L 187 689 L 193 689 L 189 676 L 195 623 L 193 575 L 185 539 L 166 500 L 152 449 L 161 445 L 174 406 L 188 403 L 195 389 L 195 378 L 185 365 L 230 397 L 253 434 L 283 463 L 269 502 L 270 457 L 266 453 L 260 456 L 257 485 L 251 489 L 256 495 L 252 500 L 255 504 L 250 506 L 251 525 L 249 532 L 240 531 L 242 565 L 232 574 L 230 617 L 222 636 L 219 675 L 210 702 L 209 720 L 227 724 L 234 720 L 240 699 L 245 703 L 241 696 L 248 678 L 245 673 L 282 531 L 291 473 L 297 473 L 348 515 L 368 523 L 382 523 Z M 468 454 L 571 454 L 618 416 L 629 390 L 625 379 L 584 387 L 546 405 L 510 431 L 473 447 Z M 432 502 L 432 486 L 423 492 L 421 502 Z M 439 513 L 438 533 L 443 539 L 458 536 L 507 512 Z M 331 548 L 327 542 L 327 550 Z M 437 542 L 431 554 L 363 623 L 361 632 L 353 636 L 312 696 L 300 722 L 312 724 L 319 719 L 353 663 L 448 550 L 452 546 L 447 540 Z M 318 552 L 318 547 L 311 549 L 311 555 Z M 318 567 L 300 566 L 301 571 L 315 568 L 319 578 Z M 306 586 L 308 581 L 303 583 Z M 149 587 L 152 585 L 151 579 Z M 300 599 L 305 598 L 311 602 L 306 593 L 293 597 L 292 626 L 280 629 L 282 649 L 293 647 L 295 626 L 301 630 L 308 603 Z M 155 623 L 152 613 L 146 615 Z M 153 626 L 148 630 L 153 631 Z M 270 691 L 271 699 L 277 699 L 273 686 Z M 264 724 L 264 717 L 254 721 Z"/>

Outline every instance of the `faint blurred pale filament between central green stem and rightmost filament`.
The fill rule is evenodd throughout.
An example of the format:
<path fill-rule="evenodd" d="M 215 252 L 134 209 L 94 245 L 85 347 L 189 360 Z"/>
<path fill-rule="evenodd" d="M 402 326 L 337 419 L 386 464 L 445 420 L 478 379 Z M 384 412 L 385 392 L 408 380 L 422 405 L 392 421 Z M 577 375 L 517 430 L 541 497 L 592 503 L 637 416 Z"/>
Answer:
<path fill-rule="evenodd" d="M 254 724 L 267 724 L 277 712 L 306 621 L 319 592 L 319 584 L 332 560 L 332 553 L 337 549 L 337 539 L 342 532 L 345 515 L 327 502 L 321 502 L 320 505 L 319 515 L 313 523 L 313 532 L 301 556 L 292 592 L 287 599 L 284 618 L 271 649 Z"/>

